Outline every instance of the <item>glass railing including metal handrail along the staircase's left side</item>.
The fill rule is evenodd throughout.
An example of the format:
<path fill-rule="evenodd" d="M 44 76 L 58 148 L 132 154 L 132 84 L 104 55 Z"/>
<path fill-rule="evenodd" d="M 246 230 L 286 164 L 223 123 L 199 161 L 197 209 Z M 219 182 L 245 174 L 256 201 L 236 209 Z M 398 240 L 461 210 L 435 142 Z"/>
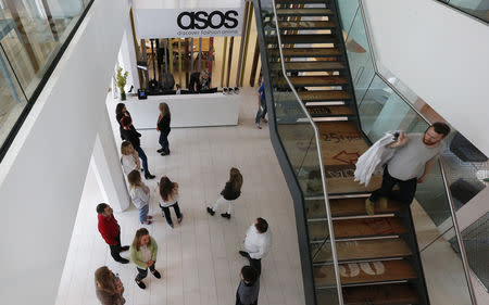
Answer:
<path fill-rule="evenodd" d="M 264 52 L 262 51 L 263 74 L 266 90 L 269 90 L 273 100 L 274 122 L 271 122 L 271 126 L 275 128 L 278 135 L 288 163 L 293 169 L 294 179 L 301 190 L 301 208 L 303 215 L 305 215 L 302 226 L 308 228 L 306 231 L 309 232 L 306 238 L 310 264 L 306 266 L 309 271 L 304 271 L 303 268 L 303 275 L 304 282 L 311 281 L 313 285 L 311 291 L 304 291 L 304 293 L 306 300 L 310 295 L 314 295 L 314 304 L 343 304 L 335 237 L 331 233 L 333 221 L 327 196 L 325 196 L 326 183 L 321 145 L 318 145 L 318 131 L 304 104 L 289 82 L 283 66 L 285 60 L 279 43 L 275 1 L 262 0 L 259 1 L 259 4 L 260 14 L 256 15 L 261 16 L 261 21 L 258 20 L 256 22 L 262 23 L 262 25 L 258 24 L 258 29 L 263 29 L 263 37 L 267 46 L 266 58 L 263 58 Z M 259 33 L 259 36 L 261 35 Z M 267 79 L 271 84 L 266 84 Z M 314 188 L 311 188 L 311 186 Z M 322 221 L 317 226 L 308 221 L 304 205 L 308 200 L 315 200 L 319 203 L 326 221 Z M 319 256 L 321 264 L 329 266 L 327 267 L 329 269 L 326 268 L 327 274 L 321 275 L 321 282 L 316 282 L 318 277 L 313 271 L 313 263 Z M 309 275 L 310 278 L 305 278 L 305 275 Z M 304 283 L 304 287 L 308 287 L 308 284 Z"/>

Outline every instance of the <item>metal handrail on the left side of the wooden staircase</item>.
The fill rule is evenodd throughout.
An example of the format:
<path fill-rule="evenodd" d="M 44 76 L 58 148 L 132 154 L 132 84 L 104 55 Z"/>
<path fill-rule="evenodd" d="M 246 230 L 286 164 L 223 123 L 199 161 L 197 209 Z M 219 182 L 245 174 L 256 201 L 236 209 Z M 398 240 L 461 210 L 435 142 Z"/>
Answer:
<path fill-rule="evenodd" d="M 275 29 L 277 30 L 277 40 L 278 40 L 278 52 L 280 54 L 280 65 L 281 65 L 281 73 L 284 74 L 284 77 L 287 81 L 287 84 L 289 85 L 290 89 L 292 90 L 293 96 L 296 96 L 296 99 L 300 105 L 300 107 L 302 109 L 302 111 L 305 113 L 305 116 L 308 117 L 309 123 L 311 124 L 311 126 L 314 129 L 314 137 L 316 140 L 316 148 L 317 148 L 317 156 L 319 160 L 319 171 L 321 171 L 321 180 L 322 180 L 322 185 L 323 185 L 323 190 L 324 190 L 324 205 L 326 208 L 326 215 L 327 215 L 327 219 L 328 219 L 328 230 L 329 230 L 329 238 L 331 241 L 331 252 L 333 252 L 333 265 L 335 267 L 335 277 L 336 277 L 336 284 L 337 284 L 337 292 L 338 292 L 338 301 L 340 305 L 343 305 L 343 294 L 341 291 L 341 281 L 340 281 L 340 275 L 339 275 L 339 267 L 338 267 L 338 255 L 336 252 L 336 240 L 335 240 L 335 231 L 333 229 L 333 216 L 331 216 L 331 211 L 329 208 L 329 201 L 328 201 L 328 196 L 327 196 L 327 188 L 326 188 L 326 174 L 324 171 L 324 163 L 323 163 L 323 151 L 321 149 L 321 142 L 319 142 L 319 131 L 316 127 L 316 125 L 314 124 L 311 115 L 308 112 L 308 109 L 305 107 L 304 103 L 302 102 L 301 98 L 299 97 L 299 94 L 297 93 L 296 89 L 293 88 L 292 82 L 290 81 L 289 77 L 287 76 L 287 71 L 285 68 L 285 59 L 284 59 L 284 52 L 281 50 L 281 37 L 280 37 L 280 28 L 278 26 L 278 16 L 277 16 L 277 9 L 276 9 L 276 3 L 275 0 L 272 0 L 273 2 L 273 10 L 274 10 L 274 17 L 275 17 Z"/>

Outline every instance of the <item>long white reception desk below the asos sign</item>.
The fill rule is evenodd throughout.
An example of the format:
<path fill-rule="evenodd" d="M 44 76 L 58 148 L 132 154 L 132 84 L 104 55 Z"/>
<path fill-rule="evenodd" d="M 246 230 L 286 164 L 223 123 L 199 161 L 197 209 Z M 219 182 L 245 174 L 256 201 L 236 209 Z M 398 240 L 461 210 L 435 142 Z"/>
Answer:
<path fill-rule="evenodd" d="M 115 113 L 120 100 L 113 100 L 110 113 Z M 165 102 L 172 113 L 172 127 L 204 127 L 238 125 L 240 94 L 204 93 L 181 96 L 149 96 L 147 100 L 128 97 L 127 111 L 138 129 L 156 128 L 158 105 Z"/>

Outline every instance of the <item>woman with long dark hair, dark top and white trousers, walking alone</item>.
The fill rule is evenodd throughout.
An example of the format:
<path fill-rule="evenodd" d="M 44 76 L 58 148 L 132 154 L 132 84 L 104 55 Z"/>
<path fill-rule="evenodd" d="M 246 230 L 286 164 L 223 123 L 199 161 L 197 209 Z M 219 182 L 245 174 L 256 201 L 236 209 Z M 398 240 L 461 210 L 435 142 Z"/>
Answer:
<path fill-rule="evenodd" d="M 227 203 L 227 212 L 221 214 L 222 217 L 229 219 L 233 213 L 233 206 L 235 201 L 241 194 L 242 187 L 242 175 L 238 168 L 231 167 L 229 170 L 229 180 L 226 182 L 224 190 L 221 192 L 221 196 L 215 202 L 214 206 L 211 208 L 208 206 L 208 213 L 214 216 L 215 211 L 223 204 Z"/>

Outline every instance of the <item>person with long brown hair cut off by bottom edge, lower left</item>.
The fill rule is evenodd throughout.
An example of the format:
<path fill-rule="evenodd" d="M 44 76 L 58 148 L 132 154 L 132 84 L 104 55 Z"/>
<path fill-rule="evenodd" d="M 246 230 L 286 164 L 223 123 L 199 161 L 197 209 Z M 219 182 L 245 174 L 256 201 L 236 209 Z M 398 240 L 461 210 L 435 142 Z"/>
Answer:
<path fill-rule="evenodd" d="M 96 270 L 95 282 L 96 295 L 102 305 L 123 305 L 126 303 L 123 296 L 124 285 L 121 279 L 106 266 Z"/>

